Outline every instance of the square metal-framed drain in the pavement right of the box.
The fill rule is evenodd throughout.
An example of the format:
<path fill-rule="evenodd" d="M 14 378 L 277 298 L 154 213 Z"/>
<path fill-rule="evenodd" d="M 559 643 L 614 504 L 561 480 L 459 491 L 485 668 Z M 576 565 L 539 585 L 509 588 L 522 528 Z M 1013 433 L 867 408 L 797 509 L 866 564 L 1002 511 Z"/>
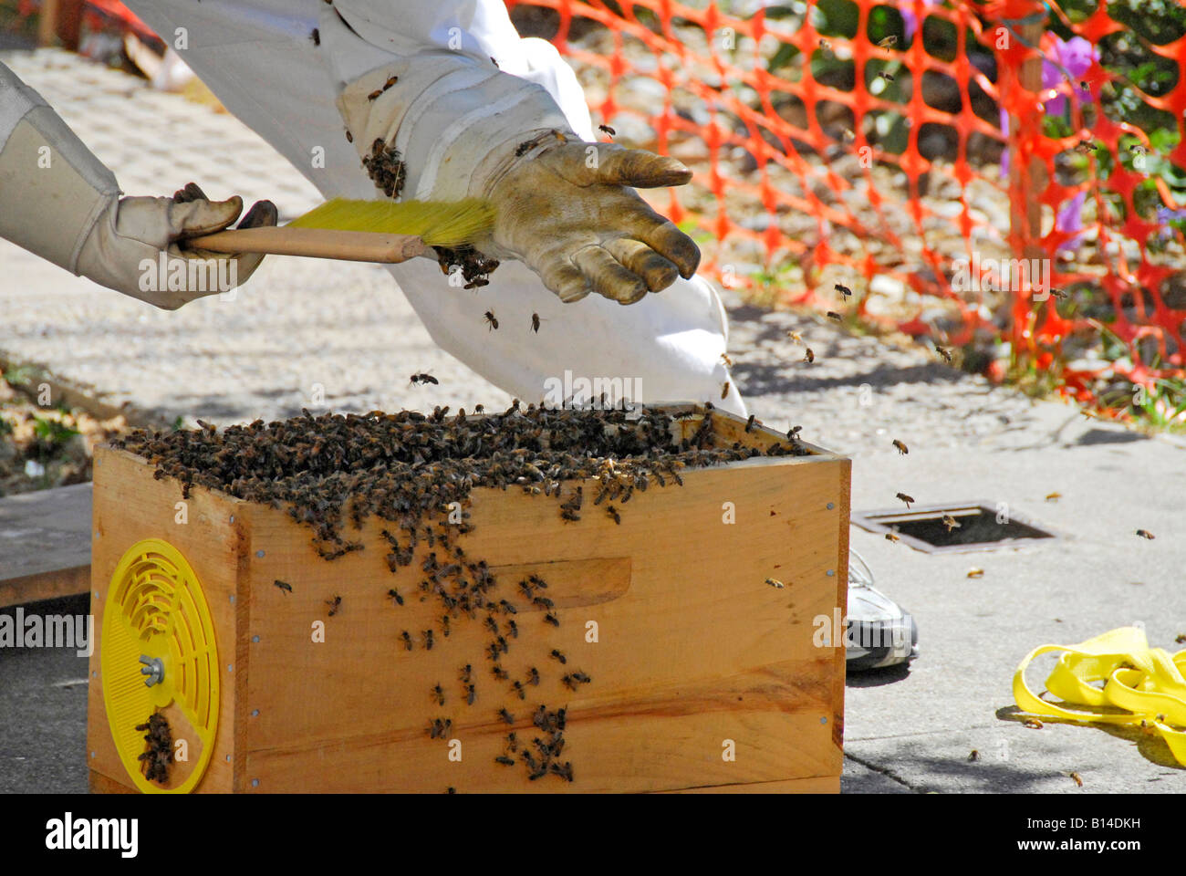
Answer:
<path fill-rule="evenodd" d="M 1001 514 L 1000 522 L 999 508 L 1008 508 L 1007 514 Z M 944 515 L 954 518 L 959 526 L 949 531 L 943 522 Z M 988 500 L 914 507 L 910 510 L 854 512 L 852 520 L 868 532 L 892 532 L 903 542 L 924 553 L 995 551 L 1001 547 L 1019 547 L 1028 541 L 1061 538 L 1060 533 L 1018 513 L 1003 502 Z"/>

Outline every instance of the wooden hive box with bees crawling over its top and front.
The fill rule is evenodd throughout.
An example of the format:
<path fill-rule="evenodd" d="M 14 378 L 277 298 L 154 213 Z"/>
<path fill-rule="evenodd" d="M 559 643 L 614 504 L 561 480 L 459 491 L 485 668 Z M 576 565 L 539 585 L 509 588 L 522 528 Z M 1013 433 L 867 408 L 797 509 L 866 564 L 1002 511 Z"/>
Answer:
<path fill-rule="evenodd" d="M 680 410 L 699 412 L 682 421 L 695 429 L 703 408 Z M 723 445 L 785 442 L 761 427 L 747 433 L 745 421 L 719 411 L 714 430 Z M 835 793 L 844 649 L 818 647 L 815 622 L 831 621 L 837 607 L 844 611 L 850 463 L 804 446 L 810 456 L 689 468 L 683 487 L 636 491 L 620 506 L 620 525 L 589 502 L 580 522 L 566 523 L 555 501 L 476 489 L 473 531 L 460 544 L 491 566 L 495 596 L 518 605 L 521 635 L 508 637 L 502 658 L 508 681 L 490 674 L 483 654 L 491 634 L 480 617 L 454 623 L 444 637 L 439 604 L 417 601 L 427 545 L 394 575 L 382 548 L 326 561 L 310 529 L 285 510 L 198 487 L 179 523 L 180 484 L 155 480 L 154 466 L 138 456 L 103 447 L 95 459 L 95 629 L 104 629 L 113 573 L 133 545 L 161 539 L 192 567 L 213 623 L 217 662 L 211 658 L 210 666 L 221 691 L 209 766 L 196 787 L 202 792 Z M 731 509 L 733 523 L 725 522 Z M 384 526 L 369 519 L 358 538 L 382 545 Z M 548 582 L 559 627 L 517 593 L 531 573 Z M 393 585 L 404 605 L 387 596 Z M 338 596 L 330 616 L 326 601 Z M 318 623 L 320 642 L 313 641 Z M 429 650 L 422 630 L 434 626 Z M 412 652 L 403 630 L 417 640 Z M 593 631 L 597 641 L 589 641 Z M 103 648 L 114 646 L 96 637 L 91 788 L 133 789 L 104 709 Z M 553 648 L 566 655 L 565 666 L 549 656 Z M 477 685 L 472 706 L 459 680 L 467 662 Z M 542 680 L 521 700 L 511 681 L 533 666 Z M 561 677 L 572 671 L 592 683 L 568 690 Z M 436 684 L 444 706 L 431 693 Z M 509 730 L 524 744 L 538 732 L 531 715 L 540 704 L 567 707 L 562 760 L 573 764 L 572 782 L 529 781 L 521 764 L 495 762 Z M 502 707 L 514 728 L 499 717 Z M 176 788 L 202 743 L 186 736 L 176 705 L 165 713 L 191 747 L 187 763 L 173 767 L 168 787 Z M 447 739 L 429 738 L 435 717 L 452 721 Z M 729 741 L 735 756 L 727 760 Z"/>

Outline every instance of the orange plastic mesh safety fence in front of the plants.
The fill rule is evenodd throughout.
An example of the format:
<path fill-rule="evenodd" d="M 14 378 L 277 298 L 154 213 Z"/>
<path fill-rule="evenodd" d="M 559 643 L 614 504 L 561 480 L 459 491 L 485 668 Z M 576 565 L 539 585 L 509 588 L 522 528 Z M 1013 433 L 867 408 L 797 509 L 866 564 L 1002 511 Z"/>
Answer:
<path fill-rule="evenodd" d="M 553 11 L 547 36 L 574 62 L 594 121 L 693 167 L 669 215 L 697 235 L 704 269 L 725 285 L 829 309 L 841 301 L 835 284 L 860 286 L 859 316 L 952 347 L 1009 342 L 1016 362 L 1054 373 L 1082 400 L 1101 375 L 1141 385 L 1182 375 L 1186 311 L 1159 290 L 1178 268 L 1147 246 L 1168 229 L 1139 215 L 1133 193 L 1147 174 L 1120 160 L 1118 137 L 1148 138 L 1099 110 L 1112 76 L 1098 53 L 1084 82 L 1041 82 L 1042 58 L 1058 50 L 1053 17 L 1097 44 L 1121 27 L 1107 0 L 1078 23 L 1037 0 L 754 2 L 752 14 L 671 0 L 508 5 L 521 23 L 527 7 Z M 948 46 L 943 57 L 936 44 Z M 1186 65 L 1186 40 L 1149 49 Z M 1076 99 L 1088 96 L 1084 84 L 1093 109 Z M 1044 133 L 1058 97 L 1075 99 L 1077 135 L 1065 140 Z M 1186 85 L 1143 99 L 1181 131 Z M 1061 165 L 1080 138 L 1112 152 L 1110 176 L 1067 180 Z M 1186 138 L 1168 159 L 1186 167 Z M 1158 190 L 1178 207 L 1163 183 Z M 1064 222 L 1067 210 L 1082 226 Z M 1180 259 L 1181 235 L 1172 237 Z M 1044 259 L 1051 286 L 1076 285 L 1076 297 L 1035 294 L 1037 277 L 1018 275 L 1022 258 Z M 1080 286 L 1101 290 L 1110 311 L 1084 315 Z M 1072 338 L 1102 324 L 1128 361 L 1080 356 L 1069 368 L 1073 350 L 1091 347 Z M 1155 356 L 1142 338 L 1156 339 Z M 1000 375 L 1003 361 L 994 367 Z"/>

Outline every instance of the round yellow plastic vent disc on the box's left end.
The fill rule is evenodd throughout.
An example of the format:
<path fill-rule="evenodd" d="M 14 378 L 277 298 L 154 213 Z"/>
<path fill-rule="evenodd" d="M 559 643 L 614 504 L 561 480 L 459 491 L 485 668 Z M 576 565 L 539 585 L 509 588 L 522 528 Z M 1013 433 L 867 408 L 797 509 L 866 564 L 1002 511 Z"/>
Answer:
<path fill-rule="evenodd" d="M 145 658 L 145 661 L 141 660 Z M 151 687 L 141 669 L 162 677 Z M 128 775 L 146 793 L 187 793 L 202 781 L 218 729 L 218 650 L 198 578 L 167 541 L 132 546 L 111 576 L 103 609 L 103 704 L 111 738 Z M 145 779 L 148 751 L 138 724 L 160 711 L 173 737 L 168 780 Z M 185 741 L 186 760 L 176 757 Z"/>

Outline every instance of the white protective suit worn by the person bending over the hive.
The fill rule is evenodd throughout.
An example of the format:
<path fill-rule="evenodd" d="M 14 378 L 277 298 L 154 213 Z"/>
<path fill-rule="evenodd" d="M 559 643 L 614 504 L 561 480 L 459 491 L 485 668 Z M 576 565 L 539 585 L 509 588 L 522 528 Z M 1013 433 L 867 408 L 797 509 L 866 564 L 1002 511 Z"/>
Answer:
<path fill-rule="evenodd" d="M 531 123 L 519 125 L 523 131 L 567 121 L 582 139 L 595 139 L 572 69 L 546 40 L 521 39 L 502 0 L 126 2 L 166 43 L 180 46 L 184 37 L 179 53 L 193 71 L 326 198 L 383 197 L 362 167 L 357 150 L 364 144 L 346 140 L 337 103 L 350 83 L 378 68 L 401 71 L 384 100 L 403 113 L 395 145 L 408 166 L 404 197 L 463 193 L 451 170 L 468 169 L 465 161 L 448 165 L 448 148 L 480 151 L 474 132 L 492 131 L 492 140 L 516 133 L 503 121 L 515 113 L 521 118 L 514 123 L 522 121 L 516 103 L 540 108 Z M 449 69 L 445 55 L 464 56 L 471 69 Z M 543 103 L 550 101 L 533 96 L 538 89 L 508 76 L 546 89 L 565 119 L 551 118 L 555 107 L 549 116 Z M 319 154 L 324 166 L 314 161 Z M 621 377 L 640 388 L 643 401 L 713 401 L 745 413 L 721 358 L 725 310 L 700 277 L 624 306 L 598 294 L 566 304 L 514 260 L 503 261 L 477 292 L 449 285 L 433 259 L 388 269 L 438 345 L 525 402 L 544 398 L 546 381 L 555 385 L 568 372 L 573 380 Z M 484 319 L 491 309 L 498 331 Z M 538 334 L 530 329 L 533 313 L 543 320 Z"/>

